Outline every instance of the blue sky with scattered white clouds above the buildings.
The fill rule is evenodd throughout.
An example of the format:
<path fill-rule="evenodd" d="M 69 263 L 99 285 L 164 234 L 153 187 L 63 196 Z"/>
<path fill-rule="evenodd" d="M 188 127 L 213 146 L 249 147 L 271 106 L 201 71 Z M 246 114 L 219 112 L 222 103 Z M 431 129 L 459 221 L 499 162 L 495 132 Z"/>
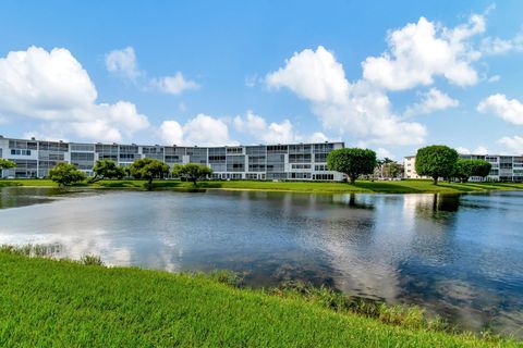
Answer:
<path fill-rule="evenodd" d="M 2 1 L 0 134 L 523 152 L 523 2 Z"/>

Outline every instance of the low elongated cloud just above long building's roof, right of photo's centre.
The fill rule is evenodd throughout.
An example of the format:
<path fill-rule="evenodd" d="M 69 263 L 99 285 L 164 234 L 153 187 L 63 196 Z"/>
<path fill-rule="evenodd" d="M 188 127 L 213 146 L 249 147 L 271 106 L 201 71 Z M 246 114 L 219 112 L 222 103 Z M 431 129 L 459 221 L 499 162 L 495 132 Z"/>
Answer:
<path fill-rule="evenodd" d="M 234 128 L 238 132 L 246 133 L 265 144 L 283 144 L 283 142 L 321 142 L 327 140 L 327 136 L 320 132 L 316 132 L 311 136 L 302 136 L 295 130 L 293 124 L 289 120 L 282 122 L 267 121 L 256 115 L 252 111 L 247 111 L 244 117 L 238 115 L 232 120 Z"/>

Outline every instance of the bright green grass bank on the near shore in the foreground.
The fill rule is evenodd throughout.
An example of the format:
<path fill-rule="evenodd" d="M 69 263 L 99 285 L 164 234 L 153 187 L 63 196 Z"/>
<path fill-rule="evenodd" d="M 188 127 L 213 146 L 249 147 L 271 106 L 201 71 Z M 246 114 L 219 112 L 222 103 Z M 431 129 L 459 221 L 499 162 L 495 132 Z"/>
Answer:
<path fill-rule="evenodd" d="M 387 325 L 203 275 L 81 265 L 0 251 L 2 347 L 494 347 Z"/>

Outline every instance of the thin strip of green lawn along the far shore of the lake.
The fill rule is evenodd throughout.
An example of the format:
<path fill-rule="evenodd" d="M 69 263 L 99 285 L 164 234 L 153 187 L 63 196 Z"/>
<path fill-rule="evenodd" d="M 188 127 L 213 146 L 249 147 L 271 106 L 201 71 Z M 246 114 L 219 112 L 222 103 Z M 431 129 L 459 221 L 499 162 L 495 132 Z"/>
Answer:
<path fill-rule="evenodd" d="M 78 184 L 76 186 L 95 188 L 134 188 L 143 189 L 144 181 L 100 181 L 94 184 Z M 2 186 L 35 186 L 56 187 L 49 179 L 0 179 Z M 179 181 L 155 181 L 154 187 L 158 189 L 192 189 L 191 183 Z M 358 181 L 354 185 L 346 183 L 306 183 L 306 182 L 255 182 L 255 181 L 207 181 L 199 182 L 199 188 L 227 189 L 227 190 L 267 190 L 267 191 L 294 191 L 317 194 L 355 194 L 355 192 L 382 192 L 382 194 L 463 194 L 487 190 L 521 190 L 523 184 L 515 183 L 440 183 L 434 185 L 431 181 L 409 179 L 401 182 Z"/>

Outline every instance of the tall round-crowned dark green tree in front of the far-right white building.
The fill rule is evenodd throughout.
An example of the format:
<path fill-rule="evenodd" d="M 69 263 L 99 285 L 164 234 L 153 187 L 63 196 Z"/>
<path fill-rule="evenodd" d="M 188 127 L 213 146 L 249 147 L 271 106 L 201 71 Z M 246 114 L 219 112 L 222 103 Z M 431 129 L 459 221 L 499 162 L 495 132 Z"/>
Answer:
<path fill-rule="evenodd" d="M 417 150 L 416 172 L 419 175 L 430 176 L 434 185 L 438 185 L 439 177 L 450 177 L 454 174 L 458 158 L 458 151 L 447 146 L 427 146 Z"/>

